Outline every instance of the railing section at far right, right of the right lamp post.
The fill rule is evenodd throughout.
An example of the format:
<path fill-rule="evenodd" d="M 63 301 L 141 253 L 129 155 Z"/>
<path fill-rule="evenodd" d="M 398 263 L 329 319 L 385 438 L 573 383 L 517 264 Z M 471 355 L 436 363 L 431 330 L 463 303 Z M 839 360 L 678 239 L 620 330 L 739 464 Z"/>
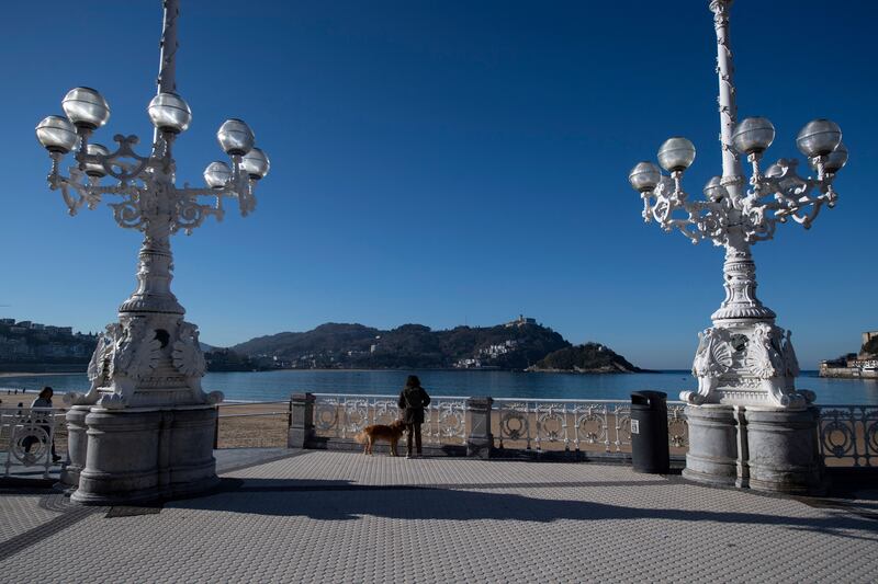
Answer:
<path fill-rule="evenodd" d="M 878 466 L 878 405 L 825 405 L 819 428 L 826 466 Z"/>

